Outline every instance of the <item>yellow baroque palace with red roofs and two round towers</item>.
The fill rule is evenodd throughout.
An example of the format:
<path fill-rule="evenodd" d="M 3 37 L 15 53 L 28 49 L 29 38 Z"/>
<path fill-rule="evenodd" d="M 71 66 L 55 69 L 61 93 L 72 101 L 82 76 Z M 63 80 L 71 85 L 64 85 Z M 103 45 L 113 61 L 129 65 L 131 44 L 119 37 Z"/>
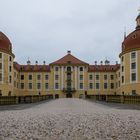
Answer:
<path fill-rule="evenodd" d="M 70 51 L 46 65 L 14 62 L 10 40 L 0 32 L 0 96 L 51 94 L 56 98 L 85 95 L 140 95 L 140 14 L 136 29 L 124 38 L 120 64 L 108 60 L 90 65 Z"/>

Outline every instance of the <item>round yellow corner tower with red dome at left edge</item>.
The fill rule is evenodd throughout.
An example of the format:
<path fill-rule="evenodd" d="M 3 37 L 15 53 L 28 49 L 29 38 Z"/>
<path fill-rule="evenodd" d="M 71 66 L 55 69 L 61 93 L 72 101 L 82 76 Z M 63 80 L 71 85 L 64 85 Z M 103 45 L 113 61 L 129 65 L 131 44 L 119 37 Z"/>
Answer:
<path fill-rule="evenodd" d="M 10 40 L 0 32 L 0 96 L 13 95 L 14 57 Z"/>

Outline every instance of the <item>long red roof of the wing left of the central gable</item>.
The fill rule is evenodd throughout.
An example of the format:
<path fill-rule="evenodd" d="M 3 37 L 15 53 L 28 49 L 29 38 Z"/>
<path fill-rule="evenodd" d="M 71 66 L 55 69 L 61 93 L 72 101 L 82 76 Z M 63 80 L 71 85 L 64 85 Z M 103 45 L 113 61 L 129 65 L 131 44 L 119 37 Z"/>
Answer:
<path fill-rule="evenodd" d="M 49 65 L 19 65 L 14 62 L 14 68 L 21 72 L 50 72 Z"/>

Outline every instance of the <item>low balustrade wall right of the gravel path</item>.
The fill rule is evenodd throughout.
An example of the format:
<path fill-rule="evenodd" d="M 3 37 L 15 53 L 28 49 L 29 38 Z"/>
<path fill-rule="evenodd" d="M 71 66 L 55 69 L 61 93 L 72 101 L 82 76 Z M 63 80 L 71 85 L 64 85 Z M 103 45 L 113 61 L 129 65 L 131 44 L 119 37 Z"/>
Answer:
<path fill-rule="evenodd" d="M 140 104 L 139 95 L 87 95 L 86 99 L 114 103 Z"/>

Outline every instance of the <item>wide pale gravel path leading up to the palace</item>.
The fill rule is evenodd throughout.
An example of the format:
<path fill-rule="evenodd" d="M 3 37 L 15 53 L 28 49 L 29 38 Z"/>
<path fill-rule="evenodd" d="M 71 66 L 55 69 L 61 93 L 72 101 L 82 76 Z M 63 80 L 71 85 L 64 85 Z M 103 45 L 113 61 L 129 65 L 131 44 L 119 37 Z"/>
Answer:
<path fill-rule="evenodd" d="M 139 140 L 140 111 L 58 99 L 0 111 L 0 140 Z"/>

